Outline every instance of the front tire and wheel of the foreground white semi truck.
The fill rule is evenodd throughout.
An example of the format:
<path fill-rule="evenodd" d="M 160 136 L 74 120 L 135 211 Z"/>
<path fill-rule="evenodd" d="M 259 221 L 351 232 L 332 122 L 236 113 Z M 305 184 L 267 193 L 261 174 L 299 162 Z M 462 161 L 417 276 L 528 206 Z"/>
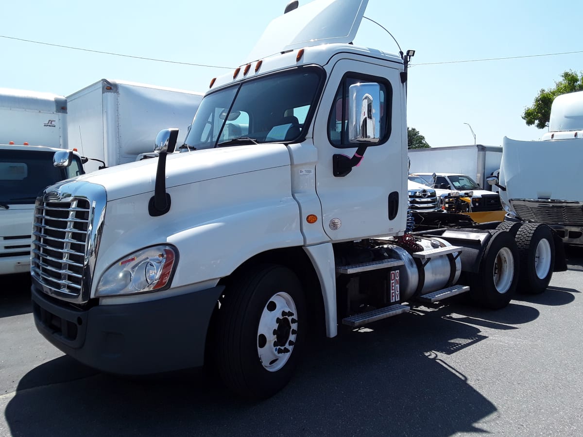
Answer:
<path fill-rule="evenodd" d="M 230 284 L 217 319 L 219 375 L 239 396 L 266 399 L 289 382 L 304 347 L 307 316 L 300 280 L 287 267 L 262 264 Z M 278 346 L 289 352 L 277 355 Z M 261 354 L 269 362 L 262 362 Z"/>

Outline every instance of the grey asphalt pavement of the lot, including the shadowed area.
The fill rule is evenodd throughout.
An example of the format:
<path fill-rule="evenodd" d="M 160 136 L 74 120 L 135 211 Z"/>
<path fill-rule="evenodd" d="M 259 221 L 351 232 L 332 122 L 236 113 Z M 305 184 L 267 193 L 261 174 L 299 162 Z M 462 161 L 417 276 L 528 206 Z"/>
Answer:
<path fill-rule="evenodd" d="M 583 249 L 541 295 L 455 299 L 311 339 L 271 399 L 201 369 L 104 375 L 37 333 L 30 280 L 0 288 L 0 436 L 581 436 Z M 188 345 L 185 345 L 188 347 Z"/>

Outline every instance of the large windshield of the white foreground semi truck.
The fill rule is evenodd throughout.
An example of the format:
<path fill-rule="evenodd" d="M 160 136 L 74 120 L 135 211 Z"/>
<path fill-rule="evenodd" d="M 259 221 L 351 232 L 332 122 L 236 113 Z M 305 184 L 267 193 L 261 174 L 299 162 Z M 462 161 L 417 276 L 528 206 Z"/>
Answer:
<path fill-rule="evenodd" d="M 297 68 L 209 94 L 196 111 L 185 143 L 199 150 L 302 138 L 321 80 L 321 69 Z"/>

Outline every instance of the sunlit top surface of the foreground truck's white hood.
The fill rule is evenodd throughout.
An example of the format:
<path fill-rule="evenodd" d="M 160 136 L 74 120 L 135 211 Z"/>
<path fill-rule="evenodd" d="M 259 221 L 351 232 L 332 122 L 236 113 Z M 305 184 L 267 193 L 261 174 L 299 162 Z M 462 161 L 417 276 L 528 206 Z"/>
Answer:
<path fill-rule="evenodd" d="M 72 180 L 103 186 L 107 191 L 107 200 L 122 199 L 153 192 L 157 164 L 158 158 L 150 158 L 97 170 Z M 290 156 L 286 146 L 282 144 L 173 153 L 167 156 L 166 188 L 285 165 L 290 165 Z"/>

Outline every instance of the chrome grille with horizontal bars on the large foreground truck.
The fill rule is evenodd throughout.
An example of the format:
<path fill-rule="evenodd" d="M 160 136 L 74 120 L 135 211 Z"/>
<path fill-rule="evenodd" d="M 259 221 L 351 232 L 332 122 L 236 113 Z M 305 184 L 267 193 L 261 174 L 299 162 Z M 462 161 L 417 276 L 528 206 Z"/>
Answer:
<path fill-rule="evenodd" d="M 87 199 L 37 203 L 31 274 L 45 288 L 78 297 L 82 291 L 91 205 Z"/>

